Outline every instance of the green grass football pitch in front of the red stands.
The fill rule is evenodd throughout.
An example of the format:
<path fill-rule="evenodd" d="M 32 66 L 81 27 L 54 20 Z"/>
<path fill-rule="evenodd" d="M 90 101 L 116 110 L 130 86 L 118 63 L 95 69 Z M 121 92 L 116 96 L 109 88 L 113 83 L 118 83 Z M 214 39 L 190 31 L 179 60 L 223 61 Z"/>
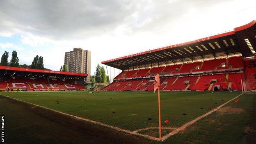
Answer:
<path fill-rule="evenodd" d="M 88 91 L 59 91 L 1 94 L 126 130 L 134 131 L 141 128 L 158 126 L 158 95 L 153 92 L 94 91 L 89 93 Z M 160 94 L 162 126 L 178 128 L 238 96 L 241 92 L 226 91 L 212 93 L 187 91 L 161 92 Z M 251 100 L 255 96 L 254 94 L 245 95 L 242 96 L 249 99 L 247 99 L 247 105 L 242 106 L 248 108 L 248 104 L 251 105 Z M 184 113 L 186 115 L 183 115 Z M 213 117 L 216 114 L 214 112 L 207 117 Z M 235 113 L 230 113 L 230 115 L 232 114 Z M 226 117 L 226 115 L 224 116 Z M 148 120 L 147 118 L 149 117 L 152 120 Z M 207 123 L 207 117 L 203 118 L 202 121 Z M 223 115 L 219 114 L 220 119 L 222 119 L 221 117 Z M 237 116 L 232 115 L 232 117 Z M 219 118 L 216 121 L 220 121 Z M 165 120 L 169 120 L 170 123 L 164 123 Z M 202 124 L 197 122 L 195 126 L 197 125 L 200 127 Z M 187 133 L 190 133 L 191 130 L 194 130 L 194 127 L 190 128 Z M 165 134 L 169 133 L 166 130 L 163 130 L 163 132 Z M 142 133 L 157 137 L 154 131 L 147 132 L 147 130 L 144 130 Z M 179 136 L 180 134 L 176 134 L 173 137 L 176 140 L 181 140 Z M 167 139 L 168 141 L 172 142 L 170 139 Z"/>

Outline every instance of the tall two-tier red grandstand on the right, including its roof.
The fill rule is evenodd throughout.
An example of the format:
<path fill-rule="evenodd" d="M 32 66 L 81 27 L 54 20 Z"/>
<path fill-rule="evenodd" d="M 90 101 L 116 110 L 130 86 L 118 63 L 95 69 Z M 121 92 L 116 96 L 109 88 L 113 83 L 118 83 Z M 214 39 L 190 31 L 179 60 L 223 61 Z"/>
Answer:
<path fill-rule="evenodd" d="M 103 91 L 153 91 L 160 75 L 162 91 L 255 89 L 256 21 L 194 41 L 165 46 L 101 62 L 122 72 Z M 110 78 L 111 79 L 111 78 Z"/>

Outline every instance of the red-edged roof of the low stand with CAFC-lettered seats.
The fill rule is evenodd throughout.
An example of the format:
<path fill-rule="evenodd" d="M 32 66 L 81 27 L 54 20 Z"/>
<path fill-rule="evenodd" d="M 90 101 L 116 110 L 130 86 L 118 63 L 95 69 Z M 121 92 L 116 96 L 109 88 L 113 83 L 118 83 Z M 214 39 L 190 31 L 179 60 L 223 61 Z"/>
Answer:
<path fill-rule="evenodd" d="M 0 73 L 8 73 L 11 76 L 17 77 L 19 75 L 30 75 L 30 77 L 43 78 L 44 76 L 55 76 L 57 78 L 84 78 L 87 73 L 70 73 L 64 71 L 49 71 L 43 69 L 26 69 L 11 66 L 0 66 Z"/>

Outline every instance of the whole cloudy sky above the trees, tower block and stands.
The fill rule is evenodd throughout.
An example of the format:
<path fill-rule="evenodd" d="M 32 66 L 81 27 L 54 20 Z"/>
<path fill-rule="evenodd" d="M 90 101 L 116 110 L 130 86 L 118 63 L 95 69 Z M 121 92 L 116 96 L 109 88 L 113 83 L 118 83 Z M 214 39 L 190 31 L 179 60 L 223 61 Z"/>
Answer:
<path fill-rule="evenodd" d="M 101 61 L 231 31 L 256 19 L 256 0 L 0 0 L 0 54 L 20 64 L 43 56 L 59 70 L 64 53 Z M 11 56 L 9 55 L 9 58 Z"/>

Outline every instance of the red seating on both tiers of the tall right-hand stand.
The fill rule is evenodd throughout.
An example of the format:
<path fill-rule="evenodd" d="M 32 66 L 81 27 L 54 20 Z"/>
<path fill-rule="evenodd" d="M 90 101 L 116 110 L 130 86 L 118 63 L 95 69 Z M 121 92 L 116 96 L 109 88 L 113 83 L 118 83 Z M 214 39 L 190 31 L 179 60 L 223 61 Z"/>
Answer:
<path fill-rule="evenodd" d="M 153 76 L 156 73 L 160 75 L 167 74 L 176 74 L 176 73 L 190 73 L 195 71 L 214 71 L 219 69 L 230 69 L 230 68 L 241 68 L 243 67 L 243 59 L 242 57 L 230 57 L 229 59 L 215 59 L 215 60 L 207 60 L 205 62 L 193 62 L 193 63 L 185 63 L 178 65 L 169 65 L 162 67 L 155 67 L 152 69 L 140 69 L 140 70 L 132 70 L 132 71 L 123 71 L 116 78 L 141 78 L 146 76 Z M 225 65 L 225 66 L 224 66 Z M 197 69 L 199 67 L 200 69 Z M 245 79 L 246 80 L 255 80 L 255 62 L 245 61 Z M 209 74 L 209 75 L 201 75 L 199 77 L 199 81 L 197 81 L 198 76 L 182 76 L 179 78 L 161 78 L 160 79 L 160 88 L 163 90 L 184 90 L 188 87 L 191 90 L 207 90 L 211 83 L 213 86 L 220 85 L 222 89 L 227 89 L 229 82 L 231 83 L 231 89 L 241 89 L 240 80 L 244 80 L 243 73 L 229 73 L 229 77 L 226 80 L 226 74 Z M 215 82 L 215 79 L 217 82 Z M 213 82 L 211 82 L 213 80 Z M 184 84 L 184 81 L 189 81 L 188 84 Z M 213 87 L 211 87 L 213 89 Z M 153 90 L 153 81 L 147 79 L 139 79 L 139 80 L 126 80 L 122 82 L 112 82 L 107 87 L 104 87 L 102 90 Z"/>

